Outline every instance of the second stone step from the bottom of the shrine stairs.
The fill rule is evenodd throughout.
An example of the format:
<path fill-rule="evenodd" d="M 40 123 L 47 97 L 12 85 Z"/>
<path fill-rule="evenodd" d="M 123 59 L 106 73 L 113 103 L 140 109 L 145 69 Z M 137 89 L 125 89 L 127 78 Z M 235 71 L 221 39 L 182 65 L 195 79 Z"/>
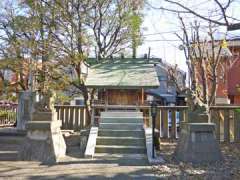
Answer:
<path fill-rule="evenodd" d="M 111 154 L 144 154 L 145 146 L 107 146 L 96 145 L 95 153 L 111 153 Z"/>

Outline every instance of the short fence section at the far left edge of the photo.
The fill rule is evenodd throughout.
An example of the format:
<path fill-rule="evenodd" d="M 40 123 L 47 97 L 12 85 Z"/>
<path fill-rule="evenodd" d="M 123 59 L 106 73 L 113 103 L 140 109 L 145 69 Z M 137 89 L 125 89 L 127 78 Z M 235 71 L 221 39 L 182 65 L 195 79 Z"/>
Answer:
<path fill-rule="evenodd" d="M 17 104 L 0 104 L 0 127 L 16 124 Z"/>

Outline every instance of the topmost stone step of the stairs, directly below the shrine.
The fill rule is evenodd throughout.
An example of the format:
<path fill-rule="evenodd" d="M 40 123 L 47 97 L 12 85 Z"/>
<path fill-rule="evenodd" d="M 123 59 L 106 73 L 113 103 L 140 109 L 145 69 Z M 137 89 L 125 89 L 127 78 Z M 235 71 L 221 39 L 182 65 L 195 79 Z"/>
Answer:
<path fill-rule="evenodd" d="M 101 112 L 101 117 L 143 117 L 139 111 L 105 111 Z"/>

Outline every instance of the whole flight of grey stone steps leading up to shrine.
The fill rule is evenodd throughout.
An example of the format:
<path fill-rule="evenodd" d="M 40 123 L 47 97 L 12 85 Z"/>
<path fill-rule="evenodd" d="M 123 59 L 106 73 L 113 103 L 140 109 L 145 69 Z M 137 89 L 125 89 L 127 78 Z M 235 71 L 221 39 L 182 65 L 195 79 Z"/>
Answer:
<path fill-rule="evenodd" d="M 102 112 L 94 156 L 130 158 L 146 163 L 143 114 L 136 111 Z"/>

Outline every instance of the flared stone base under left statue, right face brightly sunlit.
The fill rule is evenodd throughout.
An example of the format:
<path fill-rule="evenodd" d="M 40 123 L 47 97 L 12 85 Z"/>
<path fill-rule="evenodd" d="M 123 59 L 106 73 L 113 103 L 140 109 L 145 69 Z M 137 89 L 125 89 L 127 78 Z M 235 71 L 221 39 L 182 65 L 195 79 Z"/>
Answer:
<path fill-rule="evenodd" d="M 20 160 L 36 160 L 53 164 L 66 154 L 66 144 L 62 136 L 61 121 L 30 121 L 27 136 L 21 147 Z"/>

